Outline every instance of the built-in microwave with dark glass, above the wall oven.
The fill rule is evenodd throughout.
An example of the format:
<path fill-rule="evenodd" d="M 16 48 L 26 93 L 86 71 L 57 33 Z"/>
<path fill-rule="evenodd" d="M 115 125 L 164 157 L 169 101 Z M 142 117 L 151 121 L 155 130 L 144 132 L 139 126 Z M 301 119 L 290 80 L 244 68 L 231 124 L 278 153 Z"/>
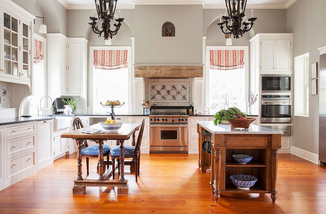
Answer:
<path fill-rule="evenodd" d="M 262 74 L 261 93 L 291 93 L 291 75 Z"/>

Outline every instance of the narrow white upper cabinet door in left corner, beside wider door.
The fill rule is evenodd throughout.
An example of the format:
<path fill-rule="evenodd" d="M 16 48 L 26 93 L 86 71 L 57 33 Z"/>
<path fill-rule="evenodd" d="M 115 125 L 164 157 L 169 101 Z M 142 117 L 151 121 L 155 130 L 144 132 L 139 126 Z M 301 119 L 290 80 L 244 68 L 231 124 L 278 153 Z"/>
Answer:
<path fill-rule="evenodd" d="M 60 40 L 60 92 L 67 95 L 68 86 L 68 66 L 67 66 L 67 42 Z"/>

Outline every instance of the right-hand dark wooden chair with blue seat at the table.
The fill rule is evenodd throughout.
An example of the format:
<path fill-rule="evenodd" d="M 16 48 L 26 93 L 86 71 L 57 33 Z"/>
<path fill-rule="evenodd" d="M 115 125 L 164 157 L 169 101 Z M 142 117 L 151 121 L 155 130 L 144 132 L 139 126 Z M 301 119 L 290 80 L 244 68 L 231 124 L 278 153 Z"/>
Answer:
<path fill-rule="evenodd" d="M 139 166 L 140 166 L 140 159 L 141 159 L 141 138 L 144 132 L 144 124 L 145 124 L 145 120 L 143 120 L 141 123 L 141 128 L 139 130 L 136 146 L 124 146 L 125 158 L 133 159 L 131 162 L 134 162 L 135 165 L 136 182 L 137 182 L 137 176 L 139 176 Z M 119 159 L 120 146 L 113 147 L 110 150 L 110 154 L 112 159 L 112 170 L 113 170 L 112 179 L 114 179 L 114 169 L 115 169 L 114 162 L 116 158 L 118 161 L 118 174 L 120 175 L 120 159 Z"/>

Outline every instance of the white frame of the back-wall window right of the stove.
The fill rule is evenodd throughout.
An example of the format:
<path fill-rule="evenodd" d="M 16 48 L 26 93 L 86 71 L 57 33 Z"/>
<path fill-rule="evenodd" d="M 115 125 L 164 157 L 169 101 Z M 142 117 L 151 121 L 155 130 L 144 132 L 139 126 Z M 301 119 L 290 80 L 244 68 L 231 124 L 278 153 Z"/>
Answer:
<path fill-rule="evenodd" d="M 245 83 L 244 83 L 244 102 L 249 102 L 249 47 L 248 46 L 206 46 L 206 63 L 205 72 L 203 74 L 203 92 L 202 97 L 206 106 L 209 104 L 209 68 L 210 68 L 210 50 L 244 50 L 244 72 L 245 72 Z M 245 111 L 245 109 L 244 109 Z"/>

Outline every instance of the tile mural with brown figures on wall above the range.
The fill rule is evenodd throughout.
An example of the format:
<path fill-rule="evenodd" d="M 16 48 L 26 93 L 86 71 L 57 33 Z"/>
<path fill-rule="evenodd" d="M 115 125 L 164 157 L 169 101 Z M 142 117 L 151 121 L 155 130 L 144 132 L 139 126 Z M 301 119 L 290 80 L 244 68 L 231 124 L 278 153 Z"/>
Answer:
<path fill-rule="evenodd" d="M 188 82 L 148 82 L 149 100 L 189 103 Z"/>

